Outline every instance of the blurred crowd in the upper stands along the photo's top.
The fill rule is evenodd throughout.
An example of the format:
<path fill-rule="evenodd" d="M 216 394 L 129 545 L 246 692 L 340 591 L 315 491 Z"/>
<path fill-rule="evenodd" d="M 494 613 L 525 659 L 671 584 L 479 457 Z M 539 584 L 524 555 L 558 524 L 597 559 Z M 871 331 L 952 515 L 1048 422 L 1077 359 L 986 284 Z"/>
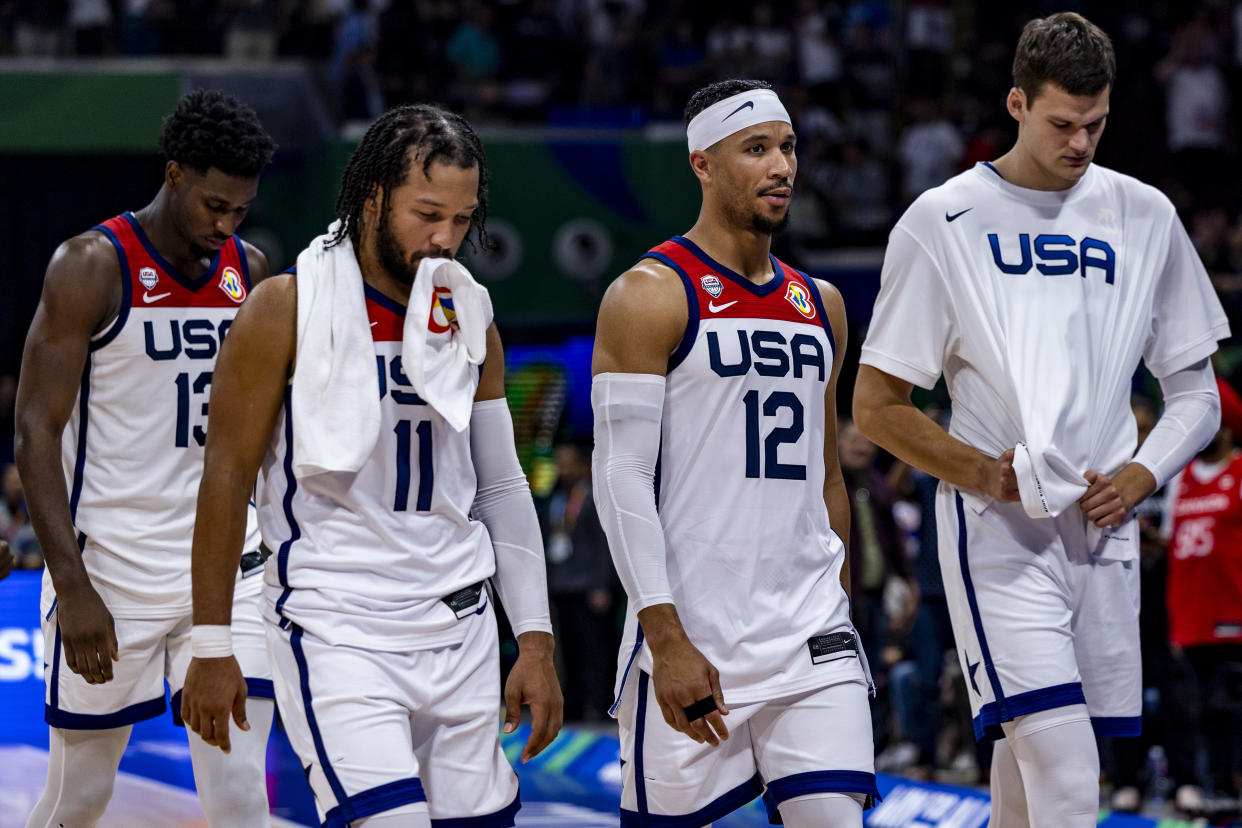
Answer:
<path fill-rule="evenodd" d="M 1237 169 L 1233 0 L 4 0 L 0 53 L 304 60 L 343 123 L 437 101 L 481 124 L 637 127 L 679 120 L 709 81 L 763 77 L 799 132 L 794 236 L 873 245 L 1006 149 L 1017 34 L 1059 10 L 1117 47 L 1100 160 L 1169 192 L 1208 266 L 1242 276 L 1237 187 L 1218 186 Z"/>

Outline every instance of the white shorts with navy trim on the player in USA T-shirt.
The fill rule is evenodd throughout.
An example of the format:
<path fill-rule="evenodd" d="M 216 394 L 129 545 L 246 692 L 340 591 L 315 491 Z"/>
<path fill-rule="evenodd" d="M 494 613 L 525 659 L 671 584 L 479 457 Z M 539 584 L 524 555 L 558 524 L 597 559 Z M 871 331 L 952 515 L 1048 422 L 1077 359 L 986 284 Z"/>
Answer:
<path fill-rule="evenodd" d="M 1035 519 L 940 484 L 940 571 L 976 739 L 1072 704 L 1097 735 L 1139 734 L 1139 562 L 1095 557 L 1086 529 L 1077 505 Z M 1138 549 L 1133 518 L 1115 536 Z"/>

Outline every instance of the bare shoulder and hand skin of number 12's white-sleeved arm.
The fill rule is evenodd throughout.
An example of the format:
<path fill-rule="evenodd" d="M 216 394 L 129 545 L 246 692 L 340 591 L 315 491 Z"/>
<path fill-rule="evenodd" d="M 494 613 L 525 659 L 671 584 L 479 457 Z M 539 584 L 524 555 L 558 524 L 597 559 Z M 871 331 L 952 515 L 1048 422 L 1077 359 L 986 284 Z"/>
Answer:
<path fill-rule="evenodd" d="M 655 374 L 664 376 L 668 358 L 686 330 L 686 290 L 673 271 L 645 259 L 626 271 L 604 295 L 595 330 L 592 375 Z M 652 683 L 664 721 L 697 742 L 718 745 L 729 737 L 729 713 L 720 674 L 686 636 L 677 607 L 657 603 L 638 612 L 652 654 Z M 693 721 L 686 708 L 712 699 L 715 708 Z"/>

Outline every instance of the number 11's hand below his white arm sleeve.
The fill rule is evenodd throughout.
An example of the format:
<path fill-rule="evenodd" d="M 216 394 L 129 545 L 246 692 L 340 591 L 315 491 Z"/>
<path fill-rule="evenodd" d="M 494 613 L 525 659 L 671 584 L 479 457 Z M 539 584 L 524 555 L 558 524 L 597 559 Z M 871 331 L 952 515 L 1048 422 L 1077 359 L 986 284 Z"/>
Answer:
<path fill-rule="evenodd" d="M 522 749 L 522 761 L 539 755 L 560 732 L 565 700 L 551 654 L 554 641 L 549 633 L 528 632 L 518 636 L 518 660 L 504 683 L 504 732 L 518 729 L 522 705 L 530 706 L 530 737 Z"/>

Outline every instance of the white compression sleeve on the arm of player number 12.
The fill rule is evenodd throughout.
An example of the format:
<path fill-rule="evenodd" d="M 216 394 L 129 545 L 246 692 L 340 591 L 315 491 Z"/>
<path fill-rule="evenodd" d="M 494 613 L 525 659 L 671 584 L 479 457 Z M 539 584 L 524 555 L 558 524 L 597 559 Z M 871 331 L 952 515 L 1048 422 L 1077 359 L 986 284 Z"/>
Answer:
<path fill-rule="evenodd" d="M 597 374 L 591 381 L 595 508 L 635 612 L 672 603 L 664 530 L 656 514 L 656 457 L 664 377 Z"/>

